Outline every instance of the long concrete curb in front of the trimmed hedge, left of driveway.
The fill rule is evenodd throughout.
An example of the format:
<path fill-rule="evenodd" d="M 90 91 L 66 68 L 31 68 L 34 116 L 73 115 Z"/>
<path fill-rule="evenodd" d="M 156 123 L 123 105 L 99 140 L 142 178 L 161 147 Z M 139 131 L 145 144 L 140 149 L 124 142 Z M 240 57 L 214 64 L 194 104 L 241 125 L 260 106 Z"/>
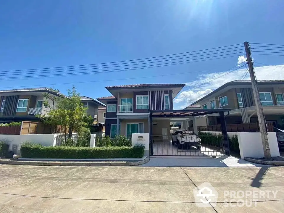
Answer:
<path fill-rule="evenodd" d="M 78 161 L 21 161 L 0 159 L 0 164 L 33 165 L 33 166 L 138 166 L 149 162 L 149 157 L 140 161 L 78 162 Z"/>

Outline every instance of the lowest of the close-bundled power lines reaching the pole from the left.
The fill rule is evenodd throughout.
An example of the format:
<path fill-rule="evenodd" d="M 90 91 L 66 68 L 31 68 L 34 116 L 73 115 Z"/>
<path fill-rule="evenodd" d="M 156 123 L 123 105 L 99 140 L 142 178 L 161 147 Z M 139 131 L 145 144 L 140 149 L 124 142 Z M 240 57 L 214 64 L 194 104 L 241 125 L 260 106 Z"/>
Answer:
<path fill-rule="evenodd" d="M 240 54 L 242 52 L 238 52 L 238 53 L 231 53 L 231 54 L 223 54 L 223 55 L 218 55 L 218 56 L 211 56 L 211 57 L 204 57 L 204 58 L 199 58 L 199 59 L 208 59 L 209 58 L 214 58 L 214 57 L 219 57 L 219 56 L 227 56 L 227 55 L 232 55 L 232 54 Z M 237 56 L 237 55 L 234 55 Z M 231 56 L 233 57 L 233 56 Z M 225 58 L 225 57 L 224 57 Z M 199 62 L 199 61 L 195 61 L 195 60 L 199 60 L 199 59 L 190 59 L 190 60 L 183 60 L 183 61 L 178 61 L 178 62 Z M 215 60 L 215 59 L 221 59 L 221 58 L 214 58 L 211 60 Z M 205 61 L 205 60 L 203 60 Z M 178 62 L 168 62 L 168 63 L 162 63 L 162 64 L 155 64 L 155 65 L 165 65 L 165 64 L 170 64 L 170 65 L 175 65 L 174 63 L 178 63 Z M 152 68 L 154 65 L 146 65 L 146 66 L 140 66 L 140 67 L 132 67 L 132 68 L 143 68 L 143 67 L 148 67 L 148 68 Z M 62 73 L 62 74 L 51 74 L 51 75 L 31 75 L 31 76 L 22 76 L 22 77 L 7 77 L 7 78 L 0 78 L 0 79 L 23 79 L 23 78 L 32 78 L 32 77 L 47 77 L 47 76 L 70 76 L 70 75 L 82 75 L 82 74 L 87 74 L 87 73 L 107 73 L 108 71 L 112 71 L 112 72 L 119 72 L 119 71 L 127 71 L 127 70 L 138 70 L 138 69 L 128 69 L 128 68 L 121 68 L 121 69 L 111 69 L 111 70 L 97 70 L 97 71 L 88 71 L 88 72 L 73 72 L 73 73 Z M 84 70 L 84 69 L 83 69 Z M 86 70 L 90 70 L 90 69 L 86 69 Z"/>

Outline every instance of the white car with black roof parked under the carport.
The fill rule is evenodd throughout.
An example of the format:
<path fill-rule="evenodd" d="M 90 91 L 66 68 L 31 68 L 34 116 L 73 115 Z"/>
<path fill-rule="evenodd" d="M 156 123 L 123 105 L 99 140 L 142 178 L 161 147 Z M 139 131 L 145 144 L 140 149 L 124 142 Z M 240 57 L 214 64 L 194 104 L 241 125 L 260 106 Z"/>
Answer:
<path fill-rule="evenodd" d="M 196 146 L 201 149 L 201 139 L 193 132 L 187 130 L 177 130 L 172 133 L 172 145 L 177 144 L 178 149 L 185 149 L 189 146 Z"/>

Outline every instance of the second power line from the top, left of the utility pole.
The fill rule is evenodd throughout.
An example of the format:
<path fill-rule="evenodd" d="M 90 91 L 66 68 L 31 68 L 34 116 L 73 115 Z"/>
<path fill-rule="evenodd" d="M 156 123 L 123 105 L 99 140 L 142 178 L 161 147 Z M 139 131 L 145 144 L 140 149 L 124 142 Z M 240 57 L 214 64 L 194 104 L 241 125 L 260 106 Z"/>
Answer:
<path fill-rule="evenodd" d="M 227 49 L 235 49 L 238 47 L 233 47 L 233 48 L 227 48 Z M 221 50 L 227 50 L 227 49 L 220 49 L 220 50 L 214 50 L 214 51 L 221 51 Z M 107 65 L 98 65 L 98 66 L 89 66 L 89 67 L 71 67 L 71 68 L 63 68 L 63 69 L 52 69 L 52 70 L 41 70 L 43 72 L 38 72 L 40 70 L 31 70 L 31 71 L 22 71 L 22 72 L 17 72 L 17 73 L 45 73 L 46 71 L 54 71 L 54 70 L 64 70 L 64 71 L 58 71 L 58 72 L 67 72 L 67 71 L 75 71 L 78 70 L 79 68 L 90 68 L 90 67 L 98 67 L 98 68 L 94 68 L 94 69 L 104 69 L 104 68 L 112 68 L 112 67 L 102 67 L 102 66 L 113 66 L 113 67 L 124 67 L 124 66 L 133 66 L 133 65 L 138 65 L 138 64 L 149 64 L 149 63 L 158 63 L 158 62 L 164 62 L 164 61 L 171 61 L 171 60 L 179 60 L 179 59 L 185 59 L 185 58 L 192 58 L 192 57 L 184 57 L 184 58 L 177 58 L 177 59 L 169 59 L 169 58 L 175 58 L 175 57 L 183 57 L 183 56 L 189 56 L 189 55 L 197 55 L 197 56 L 193 56 L 193 57 L 199 57 L 199 56 L 206 56 L 206 55 L 213 55 L 213 54 L 220 54 L 220 53 L 226 53 L 226 52 L 233 52 L 233 51 L 239 51 L 239 50 L 243 50 L 243 49 L 235 49 L 235 50 L 231 50 L 231 51 L 223 51 L 223 52 L 216 52 L 216 53 L 212 53 L 212 54 L 205 54 L 205 55 L 197 55 L 197 54 L 203 54 L 203 53 L 209 53 L 209 52 L 214 52 L 214 51 L 207 51 L 207 52 L 200 52 L 200 53 L 194 53 L 194 54 L 186 54 L 186 55 L 181 55 L 181 56 L 173 56 L 173 57 L 166 57 L 166 58 L 159 58 L 159 59 L 151 59 L 151 60 L 144 60 L 144 61 L 138 61 L 138 62 L 128 62 L 128 63 L 120 63 L 120 64 L 107 64 Z M 163 60 L 162 59 L 169 59 L 169 60 Z M 136 59 L 139 60 L 139 59 Z M 149 62 L 149 61 L 154 61 L 154 60 L 159 60 L 156 62 Z M 148 63 L 140 63 L 140 62 L 148 62 Z M 131 63 L 135 63 L 133 65 L 131 65 Z M 121 64 L 129 64 L 129 65 L 121 65 Z M 114 65 L 121 65 L 121 66 L 114 66 Z M 80 65 L 78 65 L 80 66 Z M 87 66 L 87 65 L 82 65 L 82 66 Z M 59 67 L 60 68 L 60 67 Z M 44 69 L 44 68 L 42 68 Z M 46 68 L 49 69 L 49 68 Z M 74 69 L 74 70 L 68 70 L 68 69 Z M 17 70 L 12 70 L 12 71 L 0 71 L 0 73 L 4 73 L 4 72 L 15 72 Z M 21 71 L 21 70 L 19 70 Z M 49 72 L 48 72 L 49 73 Z"/>

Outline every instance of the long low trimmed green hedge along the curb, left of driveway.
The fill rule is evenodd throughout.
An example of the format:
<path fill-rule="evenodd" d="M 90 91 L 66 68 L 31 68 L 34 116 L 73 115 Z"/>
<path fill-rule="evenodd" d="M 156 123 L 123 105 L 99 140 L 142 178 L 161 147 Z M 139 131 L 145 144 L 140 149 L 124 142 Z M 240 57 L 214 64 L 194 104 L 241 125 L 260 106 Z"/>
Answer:
<path fill-rule="evenodd" d="M 144 145 L 110 146 L 110 147 L 71 147 L 42 146 L 34 143 L 23 143 L 21 155 L 25 158 L 141 158 L 144 156 Z"/>

